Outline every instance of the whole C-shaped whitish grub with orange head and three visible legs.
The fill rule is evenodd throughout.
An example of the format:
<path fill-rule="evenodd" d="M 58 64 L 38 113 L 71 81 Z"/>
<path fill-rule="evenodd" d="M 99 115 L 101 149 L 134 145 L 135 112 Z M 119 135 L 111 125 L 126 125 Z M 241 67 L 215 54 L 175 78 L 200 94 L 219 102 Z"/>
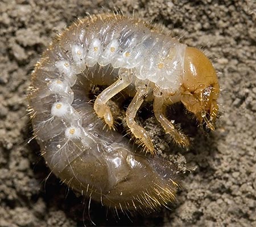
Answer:
<path fill-rule="evenodd" d="M 92 85 L 107 86 L 89 103 Z M 73 23 L 49 45 L 31 75 L 28 91 L 34 134 L 52 172 L 73 190 L 116 209 L 151 211 L 175 199 L 180 173 L 158 155 L 110 129 L 108 100 L 123 91 L 131 134 L 147 152 L 154 145 L 135 115 L 144 100 L 175 142 L 188 138 L 164 116 L 182 102 L 214 129 L 220 92 L 216 72 L 198 49 L 179 43 L 141 19 L 118 14 Z M 103 119 L 103 121 L 101 120 Z"/>

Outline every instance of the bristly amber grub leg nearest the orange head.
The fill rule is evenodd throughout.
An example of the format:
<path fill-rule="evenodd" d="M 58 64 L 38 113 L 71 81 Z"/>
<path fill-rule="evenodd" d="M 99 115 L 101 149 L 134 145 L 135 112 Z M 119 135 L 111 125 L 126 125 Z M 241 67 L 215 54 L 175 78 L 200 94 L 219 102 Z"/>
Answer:
<path fill-rule="evenodd" d="M 172 124 L 165 116 L 165 108 L 164 108 L 164 99 L 161 96 L 155 96 L 154 98 L 154 113 L 156 119 L 159 121 L 159 123 L 162 125 L 164 130 L 171 134 L 172 138 L 174 138 L 174 141 L 177 142 L 177 144 L 188 147 L 189 146 L 189 140 L 187 136 L 185 136 L 183 133 L 178 131 L 174 124 Z"/>

